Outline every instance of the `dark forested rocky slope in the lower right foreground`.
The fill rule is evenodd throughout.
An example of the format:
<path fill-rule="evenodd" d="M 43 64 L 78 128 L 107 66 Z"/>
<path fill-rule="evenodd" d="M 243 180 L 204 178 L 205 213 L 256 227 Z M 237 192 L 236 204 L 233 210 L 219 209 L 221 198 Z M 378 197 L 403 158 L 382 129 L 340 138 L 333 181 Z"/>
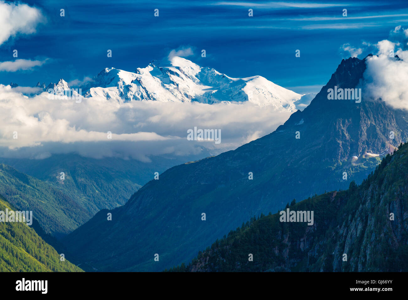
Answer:
<path fill-rule="evenodd" d="M 407 150 L 388 154 L 360 186 L 290 205 L 314 211 L 313 226 L 254 217 L 171 271 L 408 271 Z"/>

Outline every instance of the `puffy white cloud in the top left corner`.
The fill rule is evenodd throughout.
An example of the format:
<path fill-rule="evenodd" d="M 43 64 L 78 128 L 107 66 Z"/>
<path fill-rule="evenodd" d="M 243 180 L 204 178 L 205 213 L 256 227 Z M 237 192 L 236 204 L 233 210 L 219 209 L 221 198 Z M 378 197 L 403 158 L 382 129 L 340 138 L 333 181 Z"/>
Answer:
<path fill-rule="evenodd" d="M 18 34 L 35 33 L 37 25 L 44 21 L 41 11 L 35 7 L 0 1 L 0 45 Z"/>

